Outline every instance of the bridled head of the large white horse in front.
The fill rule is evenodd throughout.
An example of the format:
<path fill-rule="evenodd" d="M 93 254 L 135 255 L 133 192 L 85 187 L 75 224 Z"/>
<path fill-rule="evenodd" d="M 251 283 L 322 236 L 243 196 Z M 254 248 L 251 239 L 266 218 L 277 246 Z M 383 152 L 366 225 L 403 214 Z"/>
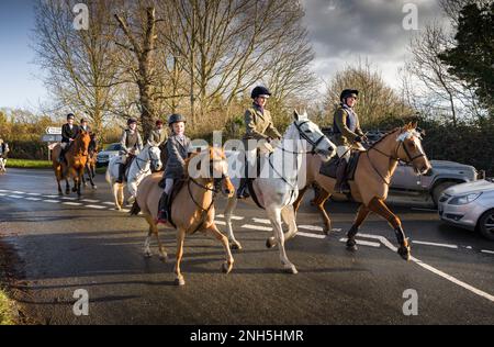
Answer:
<path fill-rule="evenodd" d="M 324 161 L 335 156 L 336 146 L 324 135 L 317 124 L 308 119 L 307 112 L 300 114 L 295 111 L 292 126 L 296 130 L 295 136 L 305 139 L 312 147 L 311 152 L 319 155 Z"/>

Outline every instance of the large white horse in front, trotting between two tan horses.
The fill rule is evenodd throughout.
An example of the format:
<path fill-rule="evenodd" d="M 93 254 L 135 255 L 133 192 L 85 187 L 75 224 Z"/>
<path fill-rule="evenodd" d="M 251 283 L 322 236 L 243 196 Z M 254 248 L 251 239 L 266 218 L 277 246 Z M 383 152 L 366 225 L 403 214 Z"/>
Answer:
<path fill-rule="evenodd" d="M 303 160 L 307 153 L 321 155 L 324 161 L 329 160 L 336 154 L 336 146 L 323 134 L 316 124 L 308 120 L 306 112 L 302 115 L 295 112 L 294 117 L 295 120 L 288 128 L 283 139 L 273 145 L 274 150 L 269 156 L 265 156 L 266 160 L 269 160 L 270 170 L 276 172 L 276 175 L 268 178 L 265 178 L 262 175 L 252 182 L 259 204 L 265 208 L 273 227 L 273 237 L 268 239 L 267 246 L 272 248 L 277 244 L 279 245 L 282 266 L 284 270 L 291 273 L 297 273 L 297 270 L 287 257 L 284 243 L 297 233 L 293 203 L 299 197 L 299 188 L 304 184 L 304 182 L 299 182 L 302 174 L 301 169 L 306 167 L 303 165 Z M 308 152 L 307 147 L 310 148 Z M 281 168 L 273 164 L 273 158 L 280 158 L 280 156 L 289 158 L 289 161 L 295 164 L 288 169 L 291 172 L 280 174 L 282 172 Z M 238 160 L 239 158 L 234 157 L 233 159 Z M 229 165 L 229 168 L 232 170 L 232 165 Z M 234 177 L 234 175 L 231 175 L 231 177 Z M 238 189 L 238 180 L 235 179 L 233 182 Z M 237 198 L 235 195 L 228 199 L 224 214 L 231 244 L 233 248 L 242 249 L 240 243 L 235 239 L 232 227 L 232 216 L 236 205 Z M 289 226 L 287 234 L 283 234 L 282 221 Z"/>

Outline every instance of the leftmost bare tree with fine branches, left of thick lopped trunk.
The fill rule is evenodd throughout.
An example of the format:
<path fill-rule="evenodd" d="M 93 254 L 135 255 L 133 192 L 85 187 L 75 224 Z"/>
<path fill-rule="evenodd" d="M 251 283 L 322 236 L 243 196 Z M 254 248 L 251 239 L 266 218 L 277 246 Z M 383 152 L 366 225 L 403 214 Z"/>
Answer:
<path fill-rule="evenodd" d="M 74 1 L 40 0 L 35 5 L 34 48 L 45 71 L 44 82 L 54 94 L 55 109 L 83 112 L 102 128 L 112 109 L 119 83 L 112 27 L 108 25 L 110 0 L 87 1 L 88 30 L 74 27 Z"/>

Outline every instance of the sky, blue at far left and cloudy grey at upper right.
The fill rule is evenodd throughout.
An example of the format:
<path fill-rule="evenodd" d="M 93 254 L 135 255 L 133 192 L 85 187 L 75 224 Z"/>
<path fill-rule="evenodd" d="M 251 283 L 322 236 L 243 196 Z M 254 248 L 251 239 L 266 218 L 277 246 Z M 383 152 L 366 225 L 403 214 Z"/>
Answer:
<path fill-rule="evenodd" d="M 418 29 L 440 14 L 438 0 L 301 0 L 315 51 L 313 69 L 328 80 L 346 65 L 368 60 L 397 87 L 397 70 L 415 31 L 405 31 L 403 5 L 418 10 Z M 0 108 L 36 111 L 47 102 L 31 48 L 34 0 L 0 0 Z M 324 83 L 321 89 L 324 88 Z"/>

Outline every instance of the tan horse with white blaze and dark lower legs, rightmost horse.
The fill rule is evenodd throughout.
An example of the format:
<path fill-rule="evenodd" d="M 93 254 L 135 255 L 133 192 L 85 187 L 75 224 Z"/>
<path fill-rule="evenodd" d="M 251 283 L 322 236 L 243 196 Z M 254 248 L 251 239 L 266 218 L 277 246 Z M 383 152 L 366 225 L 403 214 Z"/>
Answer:
<path fill-rule="evenodd" d="M 355 181 L 349 182 L 353 200 L 361 203 L 355 224 L 348 233 L 347 248 L 349 250 L 357 250 L 356 236 L 359 228 L 369 213 L 374 212 L 384 217 L 394 228 L 400 246 L 397 253 L 403 259 L 409 260 L 411 247 L 402 222 L 390 211 L 385 200 L 398 160 L 412 164 L 417 175 L 424 175 L 431 168 L 422 147 L 422 135 L 416 127 L 415 123 L 396 128 L 360 155 Z M 322 213 L 328 233 L 330 220 L 324 210 L 324 202 L 334 192 L 336 181 L 319 174 L 321 165 L 322 163 L 316 156 L 307 157 L 307 186 L 301 191 L 294 208 L 297 211 L 305 191 L 313 182 L 317 182 L 326 191 L 326 195 L 317 197 L 314 203 Z"/>

